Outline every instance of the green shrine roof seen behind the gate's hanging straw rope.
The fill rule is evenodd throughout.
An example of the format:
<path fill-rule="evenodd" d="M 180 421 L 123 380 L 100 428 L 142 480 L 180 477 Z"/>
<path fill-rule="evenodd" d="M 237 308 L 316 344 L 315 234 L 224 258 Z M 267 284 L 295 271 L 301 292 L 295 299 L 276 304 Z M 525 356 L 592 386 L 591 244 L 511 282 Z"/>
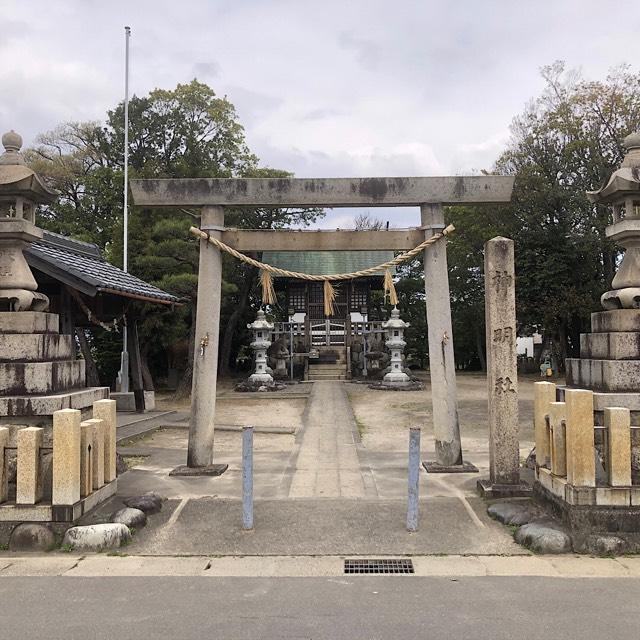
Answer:
<path fill-rule="evenodd" d="M 265 251 L 262 262 L 287 271 L 319 276 L 368 269 L 392 260 L 393 256 L 393 251 Z M 383 274 L 380 271 L 376 275 Z"/>

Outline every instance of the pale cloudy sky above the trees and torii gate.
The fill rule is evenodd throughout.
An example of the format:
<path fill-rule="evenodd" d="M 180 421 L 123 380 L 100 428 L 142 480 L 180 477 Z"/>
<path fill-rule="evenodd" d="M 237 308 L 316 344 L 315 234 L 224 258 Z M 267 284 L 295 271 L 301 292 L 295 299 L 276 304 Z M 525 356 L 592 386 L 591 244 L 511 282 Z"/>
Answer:
<path fill-rule="evenodd" d="M 477 173 L 542 66 L 599 79 L 640 60 L 638 0 L 2 0 L 0 129 L 28 145 L 103 119 L 124 96 L 125 25 L 132 93 L 208 83 L 262 164 L 298 177 Z M 370 213 L 419 224 L 414 209 Z"/>

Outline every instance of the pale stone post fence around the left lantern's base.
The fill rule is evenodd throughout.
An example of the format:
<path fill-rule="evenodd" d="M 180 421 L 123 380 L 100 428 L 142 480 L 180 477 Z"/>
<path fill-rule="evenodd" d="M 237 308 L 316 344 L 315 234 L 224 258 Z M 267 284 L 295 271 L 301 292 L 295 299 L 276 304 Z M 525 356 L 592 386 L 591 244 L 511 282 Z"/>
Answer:
<path fill-rule="evenodd" d="M 93 417 L 84 421 L 78 409 L 54 412 L 50 447 L 42 427 L 16 428 L 11 447 L 11 429 L 0 427 L 0 521 L 72 522 L 115 492 L 115 400 L 94 402 Z M 10 449 L 16 452 L 15 502 L 8 502 Z"/>

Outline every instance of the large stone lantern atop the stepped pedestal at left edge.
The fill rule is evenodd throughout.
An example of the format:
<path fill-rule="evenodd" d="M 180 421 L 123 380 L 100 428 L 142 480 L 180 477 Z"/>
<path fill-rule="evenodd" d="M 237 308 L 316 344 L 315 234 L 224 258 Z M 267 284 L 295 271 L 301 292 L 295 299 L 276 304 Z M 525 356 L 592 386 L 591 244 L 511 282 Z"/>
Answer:
<path fill-rule="evenodd" d="M 46 311 L 49 299 L 37 284 L 23 255 L 30 243 L 42 239 L 35 226 L 36 206 L 56 194 L 29 169 L 20 153 L 22 138 L 15 131 L 2 136 L 0 156 L 0 311 Z"/>

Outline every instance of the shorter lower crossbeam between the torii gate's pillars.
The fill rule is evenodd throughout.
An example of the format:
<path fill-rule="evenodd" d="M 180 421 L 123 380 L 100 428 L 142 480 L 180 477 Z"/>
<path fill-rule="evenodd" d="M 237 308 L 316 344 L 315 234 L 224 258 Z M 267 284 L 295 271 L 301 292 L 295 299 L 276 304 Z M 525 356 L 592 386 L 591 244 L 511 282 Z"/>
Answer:
<path fill-rule="evenodd" d="M 237 251 L 408 251 L 424 240 L 420 229 L 299 231 L 227 229 L 222 242 Z"/>

